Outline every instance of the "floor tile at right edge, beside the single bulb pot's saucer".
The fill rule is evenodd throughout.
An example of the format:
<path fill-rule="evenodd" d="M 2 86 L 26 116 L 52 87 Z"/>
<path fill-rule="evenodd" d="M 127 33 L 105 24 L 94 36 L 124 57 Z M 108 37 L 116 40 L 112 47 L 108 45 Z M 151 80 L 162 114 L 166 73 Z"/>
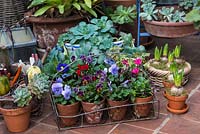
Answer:
<path fill-rule="evenodd" d="M 189 111 L 181 115 L 181 117 L 188 120 L 198 121 L 200 123 L 200 104 L 188 103 L 188 105 Z"/>

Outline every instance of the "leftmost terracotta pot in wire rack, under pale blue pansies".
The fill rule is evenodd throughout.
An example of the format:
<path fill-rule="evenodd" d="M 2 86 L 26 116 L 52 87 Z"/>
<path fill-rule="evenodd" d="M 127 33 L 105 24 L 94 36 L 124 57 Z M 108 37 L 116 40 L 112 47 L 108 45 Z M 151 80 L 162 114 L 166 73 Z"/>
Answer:
<path fill-rule="evenodd" d="M 79 114 L 80 103 L 76 102 L 71 105 L 61 105 L 57 104 L 58 113 L 61 116 L 75 116 Z M 77 123 L 78 117 L 72 118 L 61 118 L 62 123 L 65 126 L 73 126 Z"/>

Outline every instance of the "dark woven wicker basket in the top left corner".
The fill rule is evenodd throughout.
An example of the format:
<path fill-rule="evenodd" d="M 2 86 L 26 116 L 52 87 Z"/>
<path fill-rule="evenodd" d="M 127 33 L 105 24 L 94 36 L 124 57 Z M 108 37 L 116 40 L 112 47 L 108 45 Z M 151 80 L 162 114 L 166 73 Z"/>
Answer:
<path fill-rule="evenodd" d="M 23 18 L 25 13 L 25 0 L 0 1 L 0 28 L 3 25 L 12 26 Z"/>

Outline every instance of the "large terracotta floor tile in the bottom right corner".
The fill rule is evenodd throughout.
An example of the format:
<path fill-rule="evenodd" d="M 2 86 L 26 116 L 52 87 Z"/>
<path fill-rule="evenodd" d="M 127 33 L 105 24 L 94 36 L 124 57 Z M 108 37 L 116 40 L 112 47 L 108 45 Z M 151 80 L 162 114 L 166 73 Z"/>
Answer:
<path fill-rule="evenodd" d="M 200 132 L 199 126 L 199 123 L 175 116 L 160 131 L 168 134 L 198 134 Z"/>

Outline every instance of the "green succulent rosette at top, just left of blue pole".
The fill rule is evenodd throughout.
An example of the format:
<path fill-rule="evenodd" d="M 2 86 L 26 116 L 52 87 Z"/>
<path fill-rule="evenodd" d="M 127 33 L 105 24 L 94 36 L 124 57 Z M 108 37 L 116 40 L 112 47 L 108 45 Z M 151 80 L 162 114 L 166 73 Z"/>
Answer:
<path fill-rule="evenodd" d="M 113 14 L 110 14 L 112 21 L 116 24 L 133 23 L 136 16 L 136 6 L 124 7 L 118 6 Z"/>

